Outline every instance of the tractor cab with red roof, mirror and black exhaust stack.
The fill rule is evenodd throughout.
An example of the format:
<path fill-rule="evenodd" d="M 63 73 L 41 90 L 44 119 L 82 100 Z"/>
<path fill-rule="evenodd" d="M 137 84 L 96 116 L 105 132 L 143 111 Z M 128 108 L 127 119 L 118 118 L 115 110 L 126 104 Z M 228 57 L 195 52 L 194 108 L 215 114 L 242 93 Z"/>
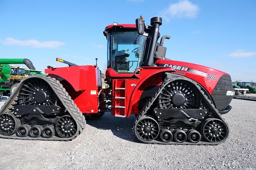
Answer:
<path fill-rule="evenodd" d="M 112 73 L 110 77 L 119 77 L 120 73 L 134 74 L 137 68 L 153 67 L 157 59 L 165 59 L 166 47 L 162 45 L 170 36 L 163 36 L 157 43 L 162 18 L 154 17 L 150 22 L 151 26 L 146 26 L 144 18 L 138 18 L 136 24 L 114 22 L 105 28 L 103 34 L 108 40 L 107 72 Z"/>

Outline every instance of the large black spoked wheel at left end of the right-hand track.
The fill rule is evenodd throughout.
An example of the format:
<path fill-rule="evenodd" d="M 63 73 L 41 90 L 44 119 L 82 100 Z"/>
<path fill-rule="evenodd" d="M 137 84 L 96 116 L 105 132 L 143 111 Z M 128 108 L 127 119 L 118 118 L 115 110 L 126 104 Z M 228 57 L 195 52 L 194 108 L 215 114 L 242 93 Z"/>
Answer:
<path fill-rule="evenodd" d="M 159 131 L 158 123 L 154 118 L 149 116 L 140 119 L 134 126 L 136 137 L 143 142 L 154 140 L 158 136 Z"/>

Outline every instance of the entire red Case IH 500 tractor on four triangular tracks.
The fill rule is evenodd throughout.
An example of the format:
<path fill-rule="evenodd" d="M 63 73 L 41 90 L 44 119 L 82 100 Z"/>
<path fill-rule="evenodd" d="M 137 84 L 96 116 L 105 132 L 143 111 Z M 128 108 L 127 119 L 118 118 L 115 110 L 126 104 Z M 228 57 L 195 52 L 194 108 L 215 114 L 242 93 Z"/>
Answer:
<path fill-rule="evenodd" d="M 85 117 L 136 115 L 135 136 L 158 144 L 220 144 L 228 138 L 233 97 L 230 75 L 216 69 L 166 59 L 160 42 L 160 17 L 136 24 L 107 26 L 108 64 L 102 88 L 101 71 L 93 65 L 45 70 L 48 77 L 20 82 L 0 111 L 0 137 L 72 140 L 86 125 Z"/>

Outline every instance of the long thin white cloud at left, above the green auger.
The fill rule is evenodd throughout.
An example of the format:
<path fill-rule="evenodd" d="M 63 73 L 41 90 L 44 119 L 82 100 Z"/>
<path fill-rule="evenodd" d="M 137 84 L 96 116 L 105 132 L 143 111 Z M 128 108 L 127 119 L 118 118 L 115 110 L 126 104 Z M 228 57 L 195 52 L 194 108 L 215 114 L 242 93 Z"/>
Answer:
<path fill-rule="evenodd" d="M 58 41 L 47 41 L 47 42 L 39 42 L 37 40 L 15 40 L 14 38 L 6 38 L 3 42 L 4 45 L 20 45 L 20 46 L 28 46 L 34 48 L 58 48 L 60 45 L 65 45 L 63 42 Z"/>

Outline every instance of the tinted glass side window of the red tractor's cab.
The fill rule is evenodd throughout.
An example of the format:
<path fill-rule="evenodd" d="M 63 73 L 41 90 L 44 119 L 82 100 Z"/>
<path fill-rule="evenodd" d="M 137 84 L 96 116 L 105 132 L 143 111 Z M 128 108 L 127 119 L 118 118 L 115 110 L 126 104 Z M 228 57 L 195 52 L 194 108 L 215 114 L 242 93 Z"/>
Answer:
<path fill-rule="evenodd" d="M 111 38 L 109 38 L 111 39 Z M 120 73 L 134 73 L 140 67 L 146 37 L 137 32 L 112 34 L 111 67 Z"/>

